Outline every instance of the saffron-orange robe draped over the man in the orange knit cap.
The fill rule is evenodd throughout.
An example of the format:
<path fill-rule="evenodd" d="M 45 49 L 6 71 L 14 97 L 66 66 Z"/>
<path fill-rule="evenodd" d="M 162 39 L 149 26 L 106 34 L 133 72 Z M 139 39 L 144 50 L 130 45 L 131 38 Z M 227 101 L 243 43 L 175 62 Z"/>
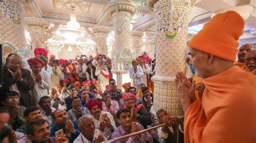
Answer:
<path fill-rule="evenodd" d="M 233 66 L 203 83 L 185 113 L 185 142 L 255 142 L 256 77 Z"/>

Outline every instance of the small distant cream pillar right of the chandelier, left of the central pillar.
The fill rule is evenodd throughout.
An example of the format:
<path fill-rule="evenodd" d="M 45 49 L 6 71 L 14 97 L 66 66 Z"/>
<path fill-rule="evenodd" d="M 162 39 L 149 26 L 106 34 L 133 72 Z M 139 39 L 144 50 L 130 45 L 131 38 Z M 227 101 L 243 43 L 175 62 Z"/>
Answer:
<path fill-rule="evenodd" d="M 109 27 L 95 26 L 94 32 L 96 36 L 96 52 L 107 55 L 106 39 L 110 32 Z"/>

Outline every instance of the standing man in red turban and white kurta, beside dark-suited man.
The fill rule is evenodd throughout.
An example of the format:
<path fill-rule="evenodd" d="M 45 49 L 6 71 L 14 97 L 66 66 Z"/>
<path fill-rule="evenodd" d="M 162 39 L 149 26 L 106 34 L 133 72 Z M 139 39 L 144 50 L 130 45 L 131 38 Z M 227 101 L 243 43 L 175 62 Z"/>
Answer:
<path fill-rule="evenodd" d="M 33 81 L 35 81 L 35 86 L 29 93 L 37 104 L 41 97 L 48 95 L 48 89 L 51 85 L 51 76 L 47 71 L 42 70 L 45 64 L 43 60 L 39 58 L 30 58 L 28 64 L 30 66 Z"/>

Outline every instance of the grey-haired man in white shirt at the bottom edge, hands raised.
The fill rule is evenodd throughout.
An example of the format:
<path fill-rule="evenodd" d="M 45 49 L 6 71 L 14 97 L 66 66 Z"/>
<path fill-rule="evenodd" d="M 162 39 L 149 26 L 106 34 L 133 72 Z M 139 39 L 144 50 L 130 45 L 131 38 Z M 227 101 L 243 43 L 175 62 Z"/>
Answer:
<path fill-rule="evenodd" d="M 78 127 L 81 133 L 74 140 L 74 143 L 99 143 L 105 141 L 102 131 L 99 132 L 98 138 L 95 137 L 95 124 L 93 122 L 92 116 L 83 116 L 78 119 Z"/>

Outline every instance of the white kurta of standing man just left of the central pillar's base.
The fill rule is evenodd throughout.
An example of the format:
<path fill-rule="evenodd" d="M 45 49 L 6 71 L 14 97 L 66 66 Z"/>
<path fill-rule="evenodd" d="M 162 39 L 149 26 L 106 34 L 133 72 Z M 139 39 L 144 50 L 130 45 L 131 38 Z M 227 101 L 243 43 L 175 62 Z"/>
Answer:
<path fill-rule="evenodd" d="M 106 85 L 109 84 L 109 78 L 106 78 L 103 74 L 109 75 L 109 69 L 107 69 L 106 66 L 103 66 L 104 70 L 99 70 L 99 66 L 96 67 L 95 75 L 98 76 L 98 82 L 100 87 L 102 87 L 102 90 L 104 91 L 106 89 Z"/>

